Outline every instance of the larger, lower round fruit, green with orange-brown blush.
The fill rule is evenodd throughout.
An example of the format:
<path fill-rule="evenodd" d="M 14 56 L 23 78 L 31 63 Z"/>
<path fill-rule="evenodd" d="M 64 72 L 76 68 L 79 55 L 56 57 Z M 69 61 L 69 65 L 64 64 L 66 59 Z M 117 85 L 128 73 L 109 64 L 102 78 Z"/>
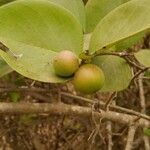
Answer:
<path fill-rule="evenodd" d="M 92 94 L 100 90 L 105 81 L 103 71 L 96 65 L 81 66 L 74 76 L 74 87 L 84 94 Z"/>

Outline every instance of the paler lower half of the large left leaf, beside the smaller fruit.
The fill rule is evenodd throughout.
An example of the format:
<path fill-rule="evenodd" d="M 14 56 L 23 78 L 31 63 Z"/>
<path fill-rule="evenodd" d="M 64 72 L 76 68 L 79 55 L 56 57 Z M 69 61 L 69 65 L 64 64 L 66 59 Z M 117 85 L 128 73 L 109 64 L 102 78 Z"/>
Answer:
<path fill-rule="evenodd" d="M 21 58 L 16 59 L 10 52 L 0 50 L 1 57 L 18 73 L 43 82 L 56 83 L 67 80 L 57 77 L 54 73 L 52 61 L 56 52 L 10 39 L 0 38 L 0 40 L 15 54 L 22 54 Z"/>

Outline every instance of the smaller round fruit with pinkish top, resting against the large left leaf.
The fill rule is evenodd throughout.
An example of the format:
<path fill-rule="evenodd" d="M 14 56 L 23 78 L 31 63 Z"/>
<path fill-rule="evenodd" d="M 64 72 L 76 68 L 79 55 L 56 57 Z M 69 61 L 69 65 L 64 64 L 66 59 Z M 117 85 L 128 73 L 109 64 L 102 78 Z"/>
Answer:
<path fill-rule="evenodd" d="M 64 50 L 54 58 L 53 67 L 56 75 L 70 77 L 79 68 L 79 59 L 73 52 Z"/>

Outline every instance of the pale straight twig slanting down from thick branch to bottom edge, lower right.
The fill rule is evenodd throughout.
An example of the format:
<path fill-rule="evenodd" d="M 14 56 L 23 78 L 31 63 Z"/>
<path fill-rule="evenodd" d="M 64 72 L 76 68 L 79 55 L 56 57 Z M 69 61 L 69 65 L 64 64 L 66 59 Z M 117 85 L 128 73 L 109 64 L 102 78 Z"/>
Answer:
<path fill-rule="evenodd" d="M 133 126 L 133 125 L 129 126 L 125 150 L 131 150 L 132 149 L 136 129 L 137 129 L 136 126 Z"/>

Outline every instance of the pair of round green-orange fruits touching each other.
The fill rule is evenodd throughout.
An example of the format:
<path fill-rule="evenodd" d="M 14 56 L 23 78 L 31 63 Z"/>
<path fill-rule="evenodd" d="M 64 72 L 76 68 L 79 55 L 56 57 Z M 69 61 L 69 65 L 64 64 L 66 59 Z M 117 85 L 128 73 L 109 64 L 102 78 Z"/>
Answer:
<path fill-rule="evenodd" d="M 53 60 L 56 75 L 73 77 L 76 90 L 84 94 L 92 94 L 100 90 L 105 81 L 103 71 L 94 64 L 80 66 L 79 58 L 71 51 L 61 51 Z"/>

